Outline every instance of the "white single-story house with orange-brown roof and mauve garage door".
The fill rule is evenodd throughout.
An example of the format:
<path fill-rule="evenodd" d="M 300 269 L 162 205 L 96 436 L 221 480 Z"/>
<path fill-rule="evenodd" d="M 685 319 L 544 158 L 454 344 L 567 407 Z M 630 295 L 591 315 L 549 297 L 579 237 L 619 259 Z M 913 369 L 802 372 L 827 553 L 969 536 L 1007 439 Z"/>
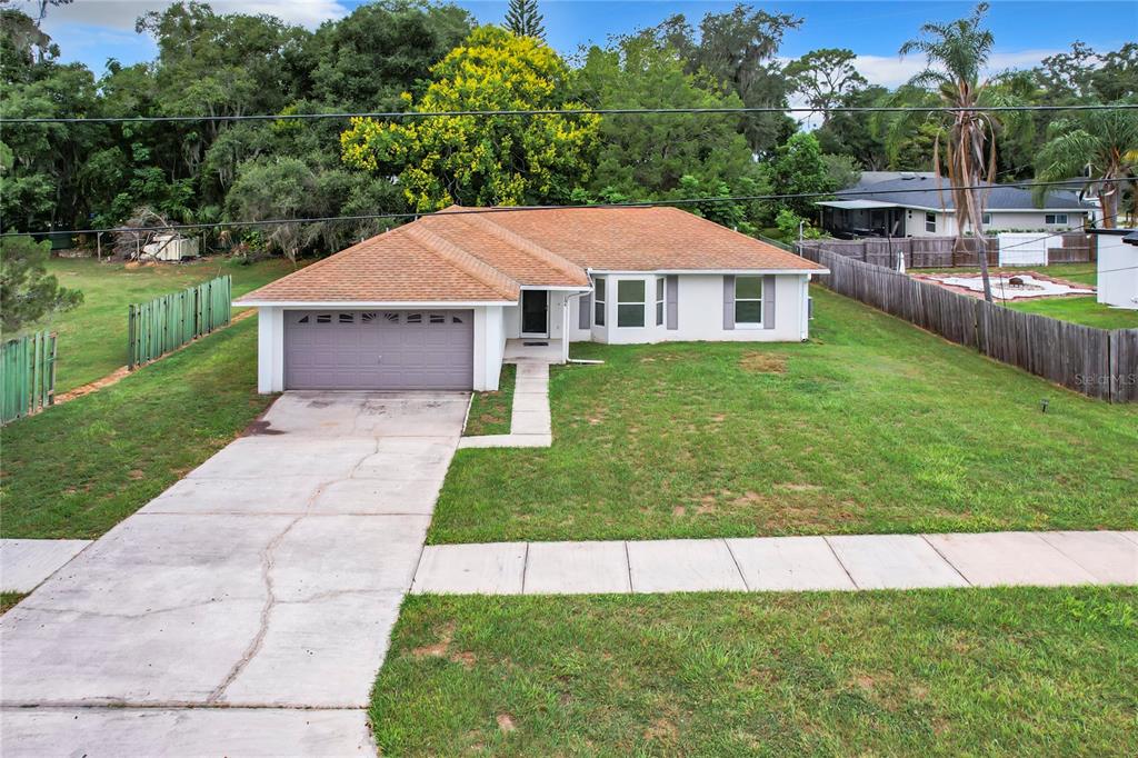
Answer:
<path fill-rule="evenodd" d="M 677 208 L 461 208 L 236 302 L 262 393 L 496 389 L 508 341 L 797 341 L 816 263 Z M 520 341 L 518 341 L 520 340 Z"/>

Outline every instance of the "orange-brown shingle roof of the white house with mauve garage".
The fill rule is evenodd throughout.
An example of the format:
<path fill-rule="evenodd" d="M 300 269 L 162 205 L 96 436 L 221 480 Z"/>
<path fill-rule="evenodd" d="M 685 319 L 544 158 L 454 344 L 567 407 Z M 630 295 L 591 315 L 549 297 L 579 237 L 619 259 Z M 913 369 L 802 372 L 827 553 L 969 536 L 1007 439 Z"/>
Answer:
<path fill-rule="evenodd" d="M 516 302 L 522 287 L 587 289 L 588 271 L 824 271 L 685 211 L 452 206 L 238 299 Z"/>

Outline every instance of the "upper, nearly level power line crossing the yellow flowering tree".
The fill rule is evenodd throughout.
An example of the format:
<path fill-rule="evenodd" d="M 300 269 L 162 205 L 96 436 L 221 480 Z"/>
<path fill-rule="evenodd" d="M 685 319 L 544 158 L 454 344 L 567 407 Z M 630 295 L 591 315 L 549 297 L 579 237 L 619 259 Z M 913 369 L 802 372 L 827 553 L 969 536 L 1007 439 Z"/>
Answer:
<path fill-rule="evenodd" d="M 1132 110 L 1138 104 L 1118 105 L 1030 105 L 1030 106 L 835 106 L 826 113 L 1054 113 L 1077 110 Z M 757 115 L 768 113 L 822 113 L 822 108 L 758 106 L 741 108 L 538 108 L 534 110 L 362 110 L 333 113 L 221 114 L 182 116 L 19 116 L 0 118 L 0 125 L 15 124 L 134 124 L 236 121 L 311 121 L 319 118 L 432 118 L 459 116 L 643 116 L 643 115 Z"/>

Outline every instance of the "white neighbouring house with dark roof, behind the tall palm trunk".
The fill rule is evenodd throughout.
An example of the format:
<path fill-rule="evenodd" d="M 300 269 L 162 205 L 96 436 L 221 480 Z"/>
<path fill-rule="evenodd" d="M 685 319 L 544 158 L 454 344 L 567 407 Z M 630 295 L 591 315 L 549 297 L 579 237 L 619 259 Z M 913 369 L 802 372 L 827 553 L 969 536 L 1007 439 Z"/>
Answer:
<path fill-rule="evenodd" d="M 956 206 L 948 178 L 931 172 L 865 172 L 857 184 L 815 203 L 822 228 L 835 237 L 956 237 Z M 1081 229 L 1095 206 L 1079 192 L 1048 192 L 1037 207 L 1031 190 L 991 184 L 984 203 L 986 231 Z M 965 232 L 968 228 L 965 226 Z"/>

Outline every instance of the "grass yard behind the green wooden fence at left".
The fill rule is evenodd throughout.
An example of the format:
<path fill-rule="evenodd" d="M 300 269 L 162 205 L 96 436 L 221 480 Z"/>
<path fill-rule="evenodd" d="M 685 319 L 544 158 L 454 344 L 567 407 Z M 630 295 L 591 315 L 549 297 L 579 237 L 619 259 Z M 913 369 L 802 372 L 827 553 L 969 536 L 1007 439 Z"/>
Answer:
<path fill-rule="evenodd" d="M 233 277 L 237 297 L 292 270 L 290 262 L 280 258 L 254 264 L 209 258 L 133 269 L 93 258 L 52 258 L 48 271 L 60 285 L 83 293 L 81 306 L 34 326 L 59 333 L 56 393 L 81 387 L 126 364 L 126 306 L 131 303 L 224 274 Z"/>

